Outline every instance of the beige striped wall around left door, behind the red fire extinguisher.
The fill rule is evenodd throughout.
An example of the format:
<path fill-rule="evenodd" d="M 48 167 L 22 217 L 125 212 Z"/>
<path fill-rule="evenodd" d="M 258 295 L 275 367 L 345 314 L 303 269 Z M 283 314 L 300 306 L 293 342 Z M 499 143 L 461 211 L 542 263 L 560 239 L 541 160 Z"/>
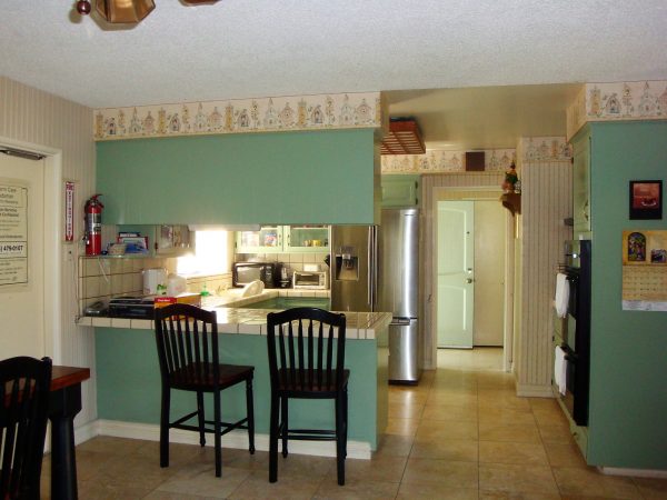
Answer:
<path fill-rule="evenodd" d="M 90 328 L 77 327 L 77 270 L 81 252 L 83 203 L 94 189 L 92 110 L 38 89 L 0 77 L 0 137 L 62 152 L 62 178 L 76 182 L 74 242 L 61 243 L 61 359 L 57 363 L 90 367 L 92 379 L 83 383 L 80 427 L 97 418 L 94 391 L 94 338 Z M 64 196 L 58 199 L 63 203 Z M 62 241 L 62 238 L 61 238 Z M 47 246 L 48 248 L 48 246 Z"/>

